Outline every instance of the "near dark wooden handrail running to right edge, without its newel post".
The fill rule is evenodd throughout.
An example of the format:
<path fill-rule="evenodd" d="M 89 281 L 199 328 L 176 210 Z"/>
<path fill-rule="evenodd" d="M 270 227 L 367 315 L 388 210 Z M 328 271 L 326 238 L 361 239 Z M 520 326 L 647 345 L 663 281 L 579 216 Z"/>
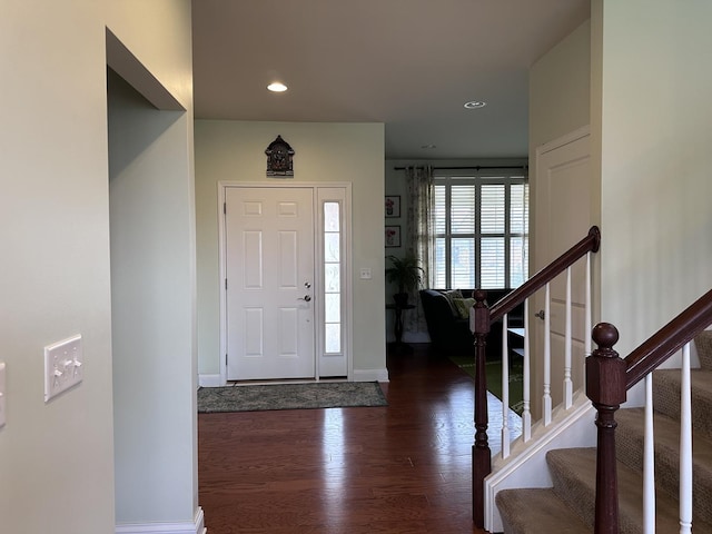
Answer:
<path fill-rule="evenodd" d="M 712 324 L 712 289 L 625 358 L 630 389 Z"/>

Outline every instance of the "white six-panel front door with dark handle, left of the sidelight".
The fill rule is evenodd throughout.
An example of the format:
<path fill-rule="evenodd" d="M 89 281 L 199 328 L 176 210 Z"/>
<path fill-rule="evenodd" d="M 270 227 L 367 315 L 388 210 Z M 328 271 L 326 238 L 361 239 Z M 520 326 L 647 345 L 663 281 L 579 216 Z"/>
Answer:
<path fill-rule="evenodd" d="M 227 378 L 314 378 L 314 190 L 227 187 L 225 199 Z"/>

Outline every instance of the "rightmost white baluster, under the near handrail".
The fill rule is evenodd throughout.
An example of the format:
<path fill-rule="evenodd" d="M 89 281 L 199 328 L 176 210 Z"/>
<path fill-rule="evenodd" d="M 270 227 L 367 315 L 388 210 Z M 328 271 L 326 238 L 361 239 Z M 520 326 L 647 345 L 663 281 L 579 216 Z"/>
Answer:
<path fill-rule="evenodd" d="M 690 344 L 682 348 L 680 386 L 680 534 L 692 532 L 692 399 Z"/>

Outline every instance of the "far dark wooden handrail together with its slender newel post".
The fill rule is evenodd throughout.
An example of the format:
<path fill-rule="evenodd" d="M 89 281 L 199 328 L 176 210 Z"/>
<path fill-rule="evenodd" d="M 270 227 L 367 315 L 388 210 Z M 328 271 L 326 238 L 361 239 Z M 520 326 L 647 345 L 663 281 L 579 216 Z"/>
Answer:
<path fill-rule="evenodd" d="M 485 373 L 485 347 L 491 325 L 511 313 L 538 289 L 552 281 L 589 253 L 597 253 L 601 231 L 592 226 L 586 237 L 575 244 L 558 258 L 532 276 L 522 286 L 500 299 L 492 309 L 485 304 L 486 290 L 474 293 L 475 305 L 471 315 L 471 326 L 475 335 L 475 443 L 472 446 L 472 503 L 473 522 L 484 527 L 484 479 L 492 473 L 492 452 L 487 437 L 487 379 Z"/>

